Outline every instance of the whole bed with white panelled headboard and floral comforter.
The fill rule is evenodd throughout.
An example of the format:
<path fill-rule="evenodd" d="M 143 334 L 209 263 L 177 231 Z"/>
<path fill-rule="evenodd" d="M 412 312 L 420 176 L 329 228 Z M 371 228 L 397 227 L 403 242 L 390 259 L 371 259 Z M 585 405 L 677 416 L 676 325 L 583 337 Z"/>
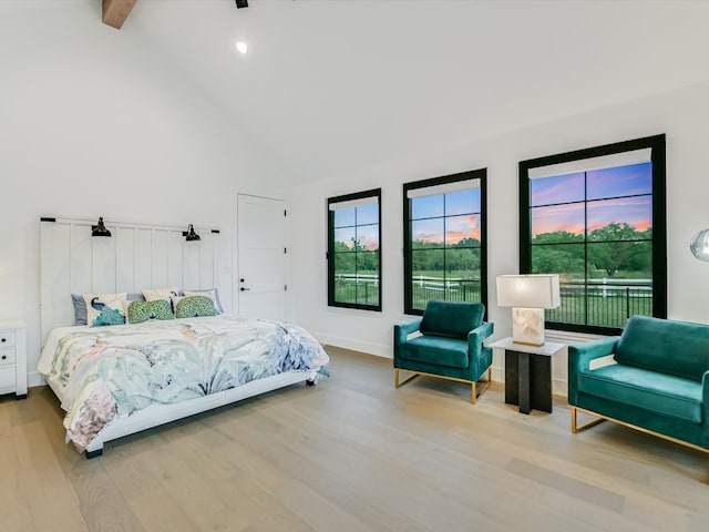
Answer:
<path fill-rule="evenodd" d="M 177 227 L 106 224 L 114 236 L 105 239 L 90 236 L 90 221 L 41 222 L 43 347 L 37 370 L 66 412 L 66 441 L 88 458 L 101 456 L 107 441 L 328 375 L 320 344 L 292 324 L 218 311 L 129 323 L 129 295 L 126 325 L 96 326 L 96 309 L 89 325 L 75 325 L 76 293 L 101 317 L 114 309 L 101 308 L 92 293 L 215 286 L 218 231 L 203 229 L 195 245 Z M 220 307 L 216 288 L 197 291 L 204 294 L 185 301 L 209 295 L 215 310 Z M 171 308 L 185 303 L 184 293 L 171 295 Z"/>

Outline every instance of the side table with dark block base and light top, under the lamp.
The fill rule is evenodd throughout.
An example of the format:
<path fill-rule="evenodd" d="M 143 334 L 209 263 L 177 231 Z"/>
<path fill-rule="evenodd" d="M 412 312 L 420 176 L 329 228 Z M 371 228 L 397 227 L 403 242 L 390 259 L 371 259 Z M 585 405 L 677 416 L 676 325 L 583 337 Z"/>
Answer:
<path fill-rule="evenodd" d="M 552 357 L 565 345 L 543 346 L 515 344 L 512 338 L 486 344 L 505 350 L 505 403 L 518 405 L 520 412 L 532 409 L 552 411 Z"/>

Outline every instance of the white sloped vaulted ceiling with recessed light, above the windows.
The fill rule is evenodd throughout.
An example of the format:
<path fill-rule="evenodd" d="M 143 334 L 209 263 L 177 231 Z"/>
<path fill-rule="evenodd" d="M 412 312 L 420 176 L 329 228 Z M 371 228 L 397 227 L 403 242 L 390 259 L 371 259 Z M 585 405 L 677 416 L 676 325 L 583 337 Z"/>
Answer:
<path fill-rule="evenodd" d="M 116 31 L 315 180 L 709 80 L 708 21 L 690 1 L 140 0 Z"/>

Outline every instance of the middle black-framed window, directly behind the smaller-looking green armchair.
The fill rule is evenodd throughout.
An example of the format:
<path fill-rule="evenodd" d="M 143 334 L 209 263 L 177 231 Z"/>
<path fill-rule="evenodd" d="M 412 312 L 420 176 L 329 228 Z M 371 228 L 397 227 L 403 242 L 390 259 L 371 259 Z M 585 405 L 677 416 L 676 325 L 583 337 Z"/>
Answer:
<path fill-rule="evenodd" d="M 485 176 L 476 170 L 403 185 L 404 311 L 430 299 L 487 303 Z"/>

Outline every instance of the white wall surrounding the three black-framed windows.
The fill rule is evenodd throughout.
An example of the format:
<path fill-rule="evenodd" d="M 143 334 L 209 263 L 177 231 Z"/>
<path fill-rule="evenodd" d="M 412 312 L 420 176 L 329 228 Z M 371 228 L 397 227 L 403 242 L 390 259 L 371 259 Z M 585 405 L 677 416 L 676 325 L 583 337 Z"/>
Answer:
<path fill-rule="evenodd" d="M 517 163 L 523 160 L 667 134 L 668 314 L 709 323 L 709 264 L 692 257 L 688 244 L 709 227 L 709 84 L 644 98 L 501 136 L 451 146 L 292 191 L 298 232 L 291 246 L 295 319 L 327 344 L 392 356 L 392 326 L 403 316 L 402 183 L 487 167 L 489 316 L 495 337 L 511 332 L 510 309 L 496 306 L 494 279 L 517 272 Z M 326 198 L 382 187 L 382 313 L 330 309 L 326 283 Z M 504 379 L 495 354 L 493 375 Z M 565 392 L 566 357 L 554 361 L 555 389 Z"/>

